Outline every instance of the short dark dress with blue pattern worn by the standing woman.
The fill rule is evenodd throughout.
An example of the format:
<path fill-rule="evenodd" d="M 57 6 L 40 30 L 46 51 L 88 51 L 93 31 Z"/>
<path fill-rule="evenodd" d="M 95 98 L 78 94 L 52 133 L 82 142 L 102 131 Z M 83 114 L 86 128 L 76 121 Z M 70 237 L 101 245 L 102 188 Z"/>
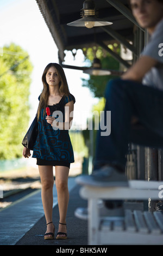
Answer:
<path fill-rule="evenodd" d="M 76 102 L 72 94 L 68 97 L 63 96 L 58 104 L 49 105 L 48 107 L 51 111 L 51 116 L 54 111 L 59 110 L 62 112 L 62 122 L 64 122 L 65 105 L 68 102 L 71 102 L 71 100 L 73 100 L 74 103 Z M 47 123 L 46 116 L 46 114 L 43 114 L 43 109 L 41 109 L 38 124 L 39 133 L 34 145 L 32 157 L 37 158 L 37 160 L 40 161 L 43 160 L 46 163 L 39 165 L 47 165 L 47 163 L 49 163 L 49 165 L 64 165 L 59 164 L 60 162 L 73 163 L 74 154 L 68 130 L 54 130 L 51 124 Z"/>

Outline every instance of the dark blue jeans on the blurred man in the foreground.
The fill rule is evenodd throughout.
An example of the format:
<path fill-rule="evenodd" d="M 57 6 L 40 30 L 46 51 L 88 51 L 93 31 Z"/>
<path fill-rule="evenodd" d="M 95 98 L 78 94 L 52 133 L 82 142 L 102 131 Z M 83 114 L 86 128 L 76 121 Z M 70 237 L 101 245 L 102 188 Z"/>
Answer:
<path fill-rule="evenodd" d="M 163 147 L 163 91 L 139 82 L 115 79 L 109 81 L 105 98 L 105 118 L 106 111 L 111 111 L 111 133 L 102 136 L 103 131 L 98 130 L 94 170 L 112 164 L 125 171 L 129 142 Z M 137 124 L 131 123 L 133 116 L 139 120 Z"/>

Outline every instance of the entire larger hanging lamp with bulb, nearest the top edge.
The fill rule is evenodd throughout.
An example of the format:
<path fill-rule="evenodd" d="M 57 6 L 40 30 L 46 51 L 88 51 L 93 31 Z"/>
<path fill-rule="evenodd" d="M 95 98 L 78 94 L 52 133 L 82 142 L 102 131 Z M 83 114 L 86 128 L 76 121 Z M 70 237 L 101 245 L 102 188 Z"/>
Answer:
<path fill-rule="evenodd" d="M 95 3 L 92 0 L 85 0 L 83 3 L 83 9 L 80 12 L 82 19 L 67 23 L 68 26 L 74 27 L 98 27 L 98 26 L 108 26 L 112 22 L 105 21 L 103 19 L 98 19 L 98 11 L 95 9 Z"/>

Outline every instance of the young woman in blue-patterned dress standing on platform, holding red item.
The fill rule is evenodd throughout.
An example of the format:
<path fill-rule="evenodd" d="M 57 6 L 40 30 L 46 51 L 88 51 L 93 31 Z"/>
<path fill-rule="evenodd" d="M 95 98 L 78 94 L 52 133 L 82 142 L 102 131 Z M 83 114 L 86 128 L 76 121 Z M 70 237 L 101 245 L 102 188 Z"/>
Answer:
<path fill-rule="evenodd" d="M 44 239 L 54 239 L 53 211 L 53 166 L 58 194 L 59 228 L 56 239 L 67 239 L 66 215 L 69 201 L 68 173 L 74 162 L 73 148 L 68 134 L 73 120 L 75 98 L 68 90 L 62 67 L 49 63 L 42 75 L 43 90 L 39 96 L 37 110 L 39 133 L 34 145 L 33 156 L 37 159 L 42 184 L 42 204 L 47 230 Z M 46 114 L 49 108 L 51 115 Z M 66 107 L 66 108 L 65 108 Z M 23 156 L 29 157 L 30 150 L 23 148 Z"/>

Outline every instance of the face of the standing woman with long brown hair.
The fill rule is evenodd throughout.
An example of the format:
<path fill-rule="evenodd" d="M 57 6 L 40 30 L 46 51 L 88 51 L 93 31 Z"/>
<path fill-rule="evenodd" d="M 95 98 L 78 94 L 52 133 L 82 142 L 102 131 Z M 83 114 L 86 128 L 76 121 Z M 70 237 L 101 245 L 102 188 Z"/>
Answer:
<path fill-rule="evenodd" d="M 57 69 L 52 66 L 46 73 L 46 82 L 49 86 L 59 86 L 60 79 L 57 74 Z"/>

